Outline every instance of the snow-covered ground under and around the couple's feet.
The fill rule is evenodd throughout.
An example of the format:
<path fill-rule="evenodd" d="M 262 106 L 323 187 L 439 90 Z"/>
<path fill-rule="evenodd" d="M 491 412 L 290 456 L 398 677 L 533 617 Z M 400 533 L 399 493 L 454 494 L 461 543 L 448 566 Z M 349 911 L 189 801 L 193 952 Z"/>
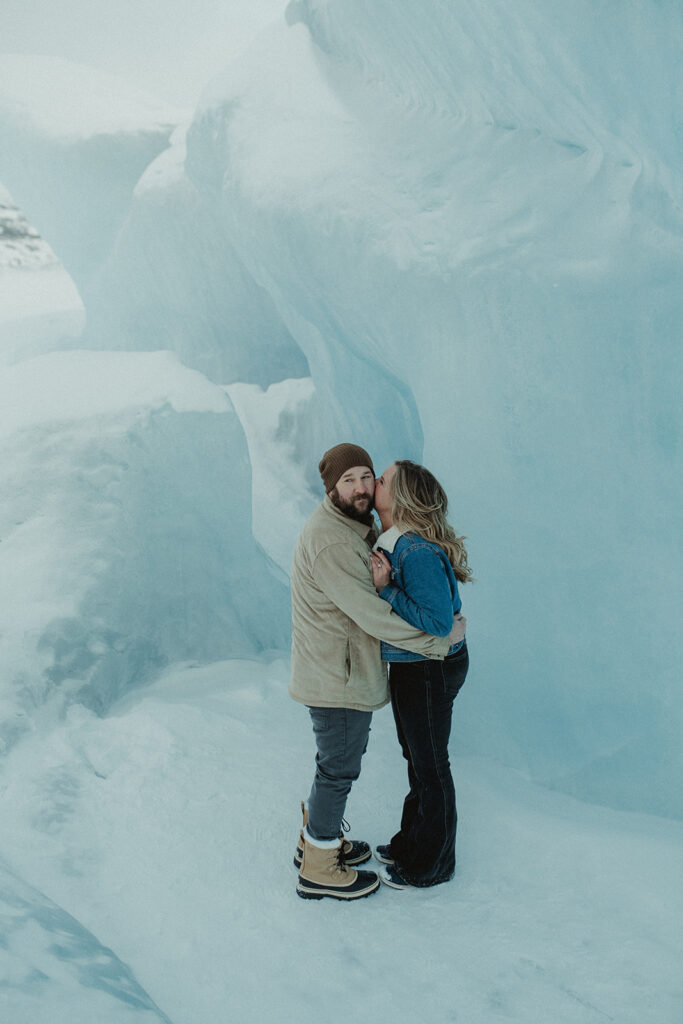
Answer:
<path fill-rule="evenodd" d="M 677 1024 L 683 826 L 459 757 L 476 669 L 456 703 L 456 879 L 352 905 L 299 899 L 292 856 L 313 741 L 287 684 L 286 658 L 177 666 L 104 719 L 72 708 L 3 765 L 2 857 L 173 1024 L 314 1024 L 323 1004 L 401 1024 Z M 386 841 L 404 783 L 385 709 L 348 804 L 352 835 Z M 6 1019 L 73 1020 L 50 1009 L 66 956 L 39 957 L 36 931 L 5 942 Z M 90 1019 L 128 1021 L 121 994 L 102 1005 L 103 987 L 81 990 Z"/>

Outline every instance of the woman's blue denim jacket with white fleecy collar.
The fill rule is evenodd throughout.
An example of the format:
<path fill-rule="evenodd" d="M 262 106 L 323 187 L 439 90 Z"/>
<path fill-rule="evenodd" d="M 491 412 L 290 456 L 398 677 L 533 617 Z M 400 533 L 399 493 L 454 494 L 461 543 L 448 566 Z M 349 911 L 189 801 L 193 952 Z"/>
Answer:
<path fill-rule="evenodd" d="M 391 582 L 380 592 L 393 610 L 411 626 L 445 637 L 462 601 L 453 566 L 442 548 L 418 534 L 399 534 L 391 526 L 376 544 L 391 562 Z M 462 647 L 454 644 L 449 654 Z M 383 662 L 426 662 L 423 654 L 382 641 Z"/>

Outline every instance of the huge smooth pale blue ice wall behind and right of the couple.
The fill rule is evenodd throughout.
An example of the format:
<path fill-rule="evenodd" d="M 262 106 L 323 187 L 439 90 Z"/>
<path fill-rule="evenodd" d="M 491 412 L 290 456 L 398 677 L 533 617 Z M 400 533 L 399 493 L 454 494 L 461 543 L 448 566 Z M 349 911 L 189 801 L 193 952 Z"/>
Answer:
<path fill-rule="evenodd" d="M 305 353 L 318 447 L 446 485 L 479 581 L 461 735 L 681 813 L 680 8 L 288 23 L 207 90 L 187 168 Z"/>

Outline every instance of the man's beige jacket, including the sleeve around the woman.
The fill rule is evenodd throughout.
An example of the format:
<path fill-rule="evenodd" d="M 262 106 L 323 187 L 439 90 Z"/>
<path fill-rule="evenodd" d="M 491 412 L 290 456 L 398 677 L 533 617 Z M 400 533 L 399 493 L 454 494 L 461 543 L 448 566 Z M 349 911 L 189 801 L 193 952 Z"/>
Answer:
<path fill-rule="evenodd" d="M 414 629 L 373 586 L 374 527 L 326 497 L 299 536 L 292 561 L 292 682 L 314 708 L 376 711 L 389 699 L 380 640 L 442 659 L 447 637 Z"/>

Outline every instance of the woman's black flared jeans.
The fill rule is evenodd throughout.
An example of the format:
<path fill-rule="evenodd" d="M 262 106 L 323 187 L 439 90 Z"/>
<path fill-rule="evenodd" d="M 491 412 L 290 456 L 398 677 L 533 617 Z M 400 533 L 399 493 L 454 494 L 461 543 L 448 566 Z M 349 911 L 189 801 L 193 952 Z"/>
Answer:
<path fill-rule="evenodd" d="M 456 869 L 456 787 L 449 760 L 453 701 L 465 682 L 467 644 L 444 662 L 391 662 L 389 685 L 410 791 L 391 856 L 401 878 L 435 886 Z"/>

